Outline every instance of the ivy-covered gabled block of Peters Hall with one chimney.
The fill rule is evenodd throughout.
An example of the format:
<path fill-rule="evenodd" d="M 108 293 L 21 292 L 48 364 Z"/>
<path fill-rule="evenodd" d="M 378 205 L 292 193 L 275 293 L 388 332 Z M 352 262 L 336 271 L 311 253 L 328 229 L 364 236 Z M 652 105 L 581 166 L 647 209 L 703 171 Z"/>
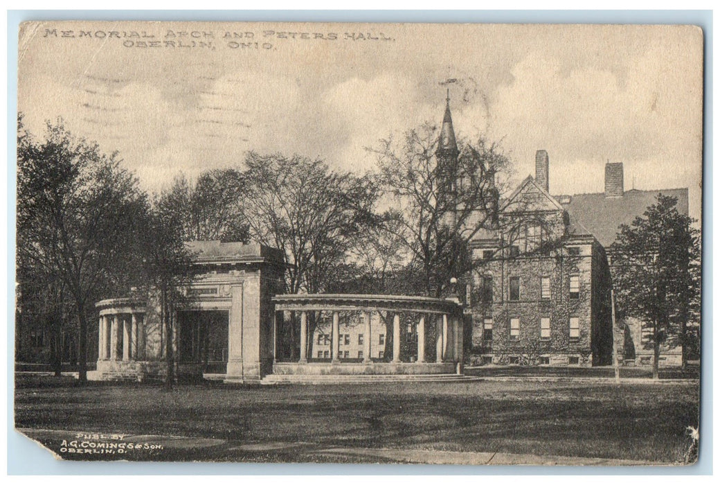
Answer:
<path fill-rule="evenodd" d="M 547 154 L 470 243 L 472 354 L 480 362 L 607 365 L 611 281 L 603 246 L 547 191 Z"/>

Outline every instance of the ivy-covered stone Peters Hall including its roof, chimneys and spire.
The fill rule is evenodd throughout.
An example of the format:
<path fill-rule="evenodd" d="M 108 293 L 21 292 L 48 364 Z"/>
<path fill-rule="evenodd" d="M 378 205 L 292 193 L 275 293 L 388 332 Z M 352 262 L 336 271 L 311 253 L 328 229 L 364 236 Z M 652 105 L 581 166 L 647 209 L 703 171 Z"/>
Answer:
<path fill-rule="evenodd" d="M 459 156 L 449 105 L 438 166 Z M 612 362 L 611 289 L 613 244 L 618 226 L 629 224 L 658 194 L 678 198 L 688 213 L 688 190 L 624 190 L 622 163 L 608 163 L 605 190 L 550 195 L 549 155 L 536 152 L 528 176 L 499 216 L 470 241 L 472 275 L 464 278 L 469 360 L 495 364 L 608 365 Z M 452 195 L 453 184 L 446 184 Z M 451 216 L 449 216 L 451 217 Z M 472 223 L 472 221 L 471 221 Z M 626 365 L 652 365 L 642 322 L 618 322 L 616 349 Z M 660 365 L 679 365 L 682 350 L 665 348 Z"/>

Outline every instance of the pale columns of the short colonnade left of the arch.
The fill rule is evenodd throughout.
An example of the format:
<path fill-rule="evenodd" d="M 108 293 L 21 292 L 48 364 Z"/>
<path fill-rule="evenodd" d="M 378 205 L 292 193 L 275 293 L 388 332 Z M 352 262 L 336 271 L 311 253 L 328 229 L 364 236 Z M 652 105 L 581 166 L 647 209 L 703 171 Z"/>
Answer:
<path fill-rule="evenodd" d="M 144 317 L 144 313 L 101 315 L 98 327 L 98 360 L 143 360 Z"/>

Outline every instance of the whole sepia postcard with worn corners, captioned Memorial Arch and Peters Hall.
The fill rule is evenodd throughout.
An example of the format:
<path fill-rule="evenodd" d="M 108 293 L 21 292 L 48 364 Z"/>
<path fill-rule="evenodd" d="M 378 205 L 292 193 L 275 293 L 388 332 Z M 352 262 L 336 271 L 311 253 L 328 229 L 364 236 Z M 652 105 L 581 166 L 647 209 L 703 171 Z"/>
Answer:
<path fill-rule="evenodd" d="M 26 22 L 17 86 L 55 457 L 696 463 L 699 27 Z"/>

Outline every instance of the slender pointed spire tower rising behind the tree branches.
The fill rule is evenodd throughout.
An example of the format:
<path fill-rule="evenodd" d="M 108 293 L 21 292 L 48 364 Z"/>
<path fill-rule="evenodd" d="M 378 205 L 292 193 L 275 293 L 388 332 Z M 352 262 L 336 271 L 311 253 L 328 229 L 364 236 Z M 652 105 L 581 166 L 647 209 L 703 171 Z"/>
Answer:
<path fill-rule="evenodd" d="M 438 138 L 438 148 L 435 151 L 438 168 L 438 206 L 446 206 L 448 210 L 442 217 L 445 226 L 455 225 L 455 210 L 450 208 L 452 201 L 456 198 L 457 184 L 457 157 L 459 155 L 455 130 L 452 126 L 452 115 L 450 114 L 450 90 L 445 104 L 445 115 L 443 125 Z"/>

